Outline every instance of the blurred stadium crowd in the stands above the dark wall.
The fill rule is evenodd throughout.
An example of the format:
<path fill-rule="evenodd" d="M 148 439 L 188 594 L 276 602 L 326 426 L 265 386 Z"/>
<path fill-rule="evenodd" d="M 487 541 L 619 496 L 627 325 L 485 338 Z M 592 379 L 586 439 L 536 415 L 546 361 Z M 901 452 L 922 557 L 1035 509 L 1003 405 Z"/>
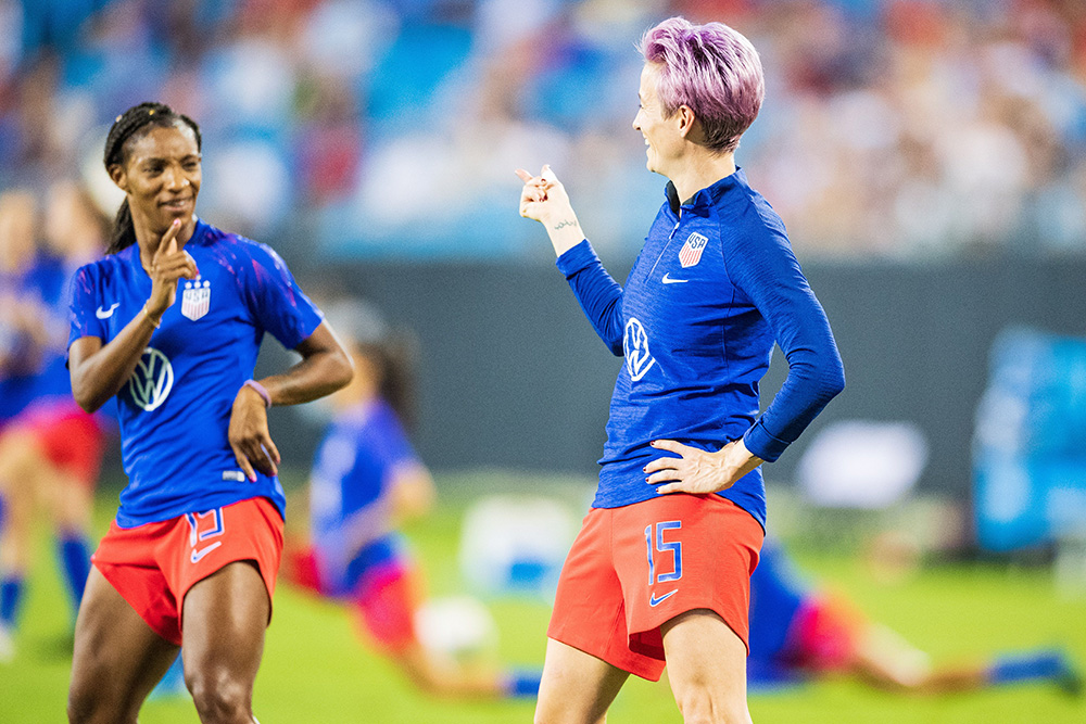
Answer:
<path fill-rule="evenodd" d="M 0 179 L 108 199 L 106 125 L 155 99 L 204 129 L 201 214 L 288 255 L 542 258 L 509 189 L 544 161 L 632 254 L 633 43 L 675 13 L 759 48 L 738 158 L 801 256 L 1086 250 L 1074 0 L 0 0 Z"/>

